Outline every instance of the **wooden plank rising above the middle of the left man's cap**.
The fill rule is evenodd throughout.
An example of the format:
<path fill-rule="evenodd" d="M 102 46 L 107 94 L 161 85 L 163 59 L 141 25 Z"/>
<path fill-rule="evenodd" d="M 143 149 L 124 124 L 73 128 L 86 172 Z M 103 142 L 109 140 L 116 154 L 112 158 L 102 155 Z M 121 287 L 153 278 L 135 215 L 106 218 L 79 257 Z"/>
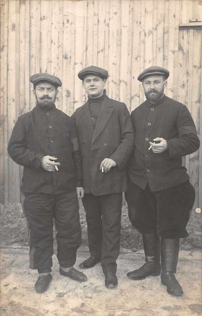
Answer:
<path fill-rule="evenodd" d="M 51 22 L 52 6 L 49 0 L 41 0 L 40 72 L 51 71 Z"/>

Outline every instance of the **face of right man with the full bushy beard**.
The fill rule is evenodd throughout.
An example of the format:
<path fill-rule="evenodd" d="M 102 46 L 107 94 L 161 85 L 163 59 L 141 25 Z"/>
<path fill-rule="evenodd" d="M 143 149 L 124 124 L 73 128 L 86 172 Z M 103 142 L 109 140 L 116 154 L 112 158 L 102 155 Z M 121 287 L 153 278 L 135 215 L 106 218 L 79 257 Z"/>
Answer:
<path fill-rule="evenodd" d="M 147 76 L 142 84 L 147 100 L 156 103 L 163 96 L 167 82 L 162 75 L 151 75 Z"/>

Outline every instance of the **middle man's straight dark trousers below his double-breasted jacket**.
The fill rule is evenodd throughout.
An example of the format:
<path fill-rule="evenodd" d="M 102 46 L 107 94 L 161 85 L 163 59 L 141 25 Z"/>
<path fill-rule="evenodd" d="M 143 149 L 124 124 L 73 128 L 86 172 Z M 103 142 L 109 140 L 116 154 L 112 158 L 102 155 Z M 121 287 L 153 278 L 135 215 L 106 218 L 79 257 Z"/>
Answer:
<path fill-rule="evenodd" d="M 122 193 L 95 196 L 85 194 L 83 199 L 88 228 L 90 255 L 101 258 L 103 272 L 116 272 L 120 251 Z"/>

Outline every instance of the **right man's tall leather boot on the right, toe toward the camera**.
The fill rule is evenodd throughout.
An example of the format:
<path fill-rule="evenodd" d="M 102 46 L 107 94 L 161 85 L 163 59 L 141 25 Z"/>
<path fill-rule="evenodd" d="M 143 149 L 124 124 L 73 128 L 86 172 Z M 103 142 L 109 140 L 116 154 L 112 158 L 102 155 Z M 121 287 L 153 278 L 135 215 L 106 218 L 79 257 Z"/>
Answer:
<path fill-rule="evenodd" d="M 183 294 L 182 287 L 174 276 L 178 261 L 179 245 L 179 238 L 161 238 L 161 283 L 167 286 L 169 294 L 175 296 Z"/>

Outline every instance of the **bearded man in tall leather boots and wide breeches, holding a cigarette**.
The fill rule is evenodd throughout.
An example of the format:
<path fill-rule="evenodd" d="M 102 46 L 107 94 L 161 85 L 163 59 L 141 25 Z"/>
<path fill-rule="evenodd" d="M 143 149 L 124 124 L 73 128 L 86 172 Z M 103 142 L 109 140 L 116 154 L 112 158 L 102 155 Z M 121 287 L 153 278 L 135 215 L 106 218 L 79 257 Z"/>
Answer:
<path fill-rule="evenodd" d="M 146 263 L 127 276 L 141 280 L 161 274 L 168 293 L 182 295 L 174 274 L 179 239 L 188 237 L 186 225 L 195 199 L 182 156 L 196 151 L 200 143 L 187 107 L 164 94 L 168 76 L 167 69 L 152 66 L 137 78 L 147 100 L 131 113 L 135 149 L 127 200 L 130 222 L 142 234 Z"/>

